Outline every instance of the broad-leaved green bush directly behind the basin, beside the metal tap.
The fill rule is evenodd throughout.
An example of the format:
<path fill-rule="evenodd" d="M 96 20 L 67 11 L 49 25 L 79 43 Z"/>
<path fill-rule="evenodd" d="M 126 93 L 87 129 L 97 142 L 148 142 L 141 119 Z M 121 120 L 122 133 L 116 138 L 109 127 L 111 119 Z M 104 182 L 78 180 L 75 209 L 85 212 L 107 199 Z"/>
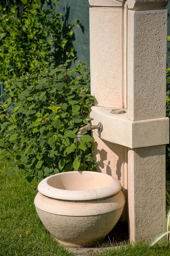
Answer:
<path fill-rule="evenodd" d="M 68 53 L 67 53 L 68 54 Z M 67 68 L 68 59 L 59 67 L 13 82 L 20 90 L 15 100 L 0 102 L 1 158 L 11 163 L 8 175 L 20 169 L 27 172 L 26 182 L 74 170 L 95 170 L 91 154 L 93 138 L 89 134 L 78 142 L 76 133 L 90 111 L 89 67 L 79 61 Z M 25 89 L 26 87 L 26 89 Z M 13 111 L 8 108 L 14 104 Z M 4 154 L 7 151 L 6 154 Z"/>

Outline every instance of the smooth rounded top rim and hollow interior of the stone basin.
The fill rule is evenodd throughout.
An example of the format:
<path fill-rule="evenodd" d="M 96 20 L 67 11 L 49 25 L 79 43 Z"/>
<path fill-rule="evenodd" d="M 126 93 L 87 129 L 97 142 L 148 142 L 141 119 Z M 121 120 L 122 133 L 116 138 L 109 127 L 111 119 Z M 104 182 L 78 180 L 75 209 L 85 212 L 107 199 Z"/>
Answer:
<path fill-rule="evenodd" d="M 67 201 L 87 201 L 108 198 L 122 186 L 119 180 L 99 172 L 63 172 L 45 178 L 38 191 L 49 198 Z"/>

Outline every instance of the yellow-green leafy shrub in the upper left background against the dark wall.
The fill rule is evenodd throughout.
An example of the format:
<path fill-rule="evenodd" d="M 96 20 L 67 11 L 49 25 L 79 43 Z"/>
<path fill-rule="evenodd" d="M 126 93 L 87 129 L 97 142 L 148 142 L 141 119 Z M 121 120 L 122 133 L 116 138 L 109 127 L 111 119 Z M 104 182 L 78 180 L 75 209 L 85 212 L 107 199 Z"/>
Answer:
<path fill-rule="evenodd" d="M 26 78 L 29 74 L 36 78 L 46 62 L 65 62 L 65 52 L 74 57 L 74 23 L 67 24 L 61 13 L 56 14 L 58 0 L 50 1 L 52 9 L 45 8 L 48 0 L 44 5 L 41 2 L 22 0 L 21 6 L 16 3 L 9 8 L 0 5 L 0 83 L 5 90 L 11 86 L 8 79 Z M 18 93 L 17 87 L 8 90 L 11 97 Z"/>

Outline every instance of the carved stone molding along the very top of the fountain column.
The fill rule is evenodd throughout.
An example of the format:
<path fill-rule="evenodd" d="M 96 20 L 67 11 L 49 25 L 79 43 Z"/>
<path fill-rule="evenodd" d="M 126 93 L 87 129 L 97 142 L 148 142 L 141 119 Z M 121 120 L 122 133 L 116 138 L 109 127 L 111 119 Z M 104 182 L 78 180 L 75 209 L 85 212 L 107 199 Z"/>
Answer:
<path fill-rule="evenodd" d="M 168 0 L 89 0 L 91 6 L 122 7 L 127 2 L 129 9 L 165 7 Z"/>

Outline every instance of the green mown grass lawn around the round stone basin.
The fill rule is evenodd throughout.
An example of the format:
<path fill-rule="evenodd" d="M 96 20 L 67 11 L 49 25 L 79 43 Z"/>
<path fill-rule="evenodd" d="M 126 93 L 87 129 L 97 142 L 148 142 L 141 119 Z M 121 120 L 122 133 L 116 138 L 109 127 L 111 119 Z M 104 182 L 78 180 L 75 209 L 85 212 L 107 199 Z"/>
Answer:
<path fill-rule="evenodd" d="M 1 160 L 0 256 L 73 256 L 57 244 L 40 221 L 31 193 L 36 182 L 27 185 L 24 175 L 6 173 L 7 163 Z M 170 256 L 170 245 L 127 245 L 91 256 Z"/>

